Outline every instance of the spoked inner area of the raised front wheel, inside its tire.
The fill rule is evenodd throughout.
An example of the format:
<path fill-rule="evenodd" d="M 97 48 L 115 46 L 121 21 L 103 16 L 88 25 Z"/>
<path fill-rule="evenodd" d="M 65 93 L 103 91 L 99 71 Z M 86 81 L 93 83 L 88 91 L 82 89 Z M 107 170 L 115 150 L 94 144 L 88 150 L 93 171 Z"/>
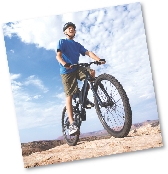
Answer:
<path fill-rule="evenodd" d="M 114 102 L 112 106 L 101 107 L 98 104 L 98 108 L 101 111 L 101 116 L 104 124 L 106 124 L 113 131 L 120 131 L 123 129 L 125 123 L 125 112 L 122 103 L 122 98 L 117 90 L 117 88 L 107 80 L 102 80 L 99 82 L 103 84 L 104 89 L 110 97 L 110 100 Z M 99 87 L 97 88 L 97 93 L 102 102 L 107 101 L 107 96 L 103 90 Z"/>

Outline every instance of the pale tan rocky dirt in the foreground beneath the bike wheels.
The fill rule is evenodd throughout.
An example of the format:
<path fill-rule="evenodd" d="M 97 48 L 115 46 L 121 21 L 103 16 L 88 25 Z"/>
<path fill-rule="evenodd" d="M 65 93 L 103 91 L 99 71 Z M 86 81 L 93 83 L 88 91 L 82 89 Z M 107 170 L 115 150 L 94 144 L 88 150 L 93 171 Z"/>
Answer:
<path fill-rule="evenodd" d="M 86 158 L 94 158 L 117 153 L 161 147 L 162 136 L 160 125 L 148 124 L 130 131 L 125 138 L 114 138 L 80 141 L 76 146 L 63 144 L 42 152 L 24 156 L 24 167 L 50 165 Z"/>

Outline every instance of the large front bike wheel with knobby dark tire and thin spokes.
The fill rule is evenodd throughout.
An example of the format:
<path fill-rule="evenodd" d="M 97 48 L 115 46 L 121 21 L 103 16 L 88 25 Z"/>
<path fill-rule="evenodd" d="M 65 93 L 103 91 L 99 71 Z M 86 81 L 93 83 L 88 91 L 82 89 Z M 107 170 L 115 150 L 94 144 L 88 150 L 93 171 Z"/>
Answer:
<path fill-rule="evenodd" d="M 127 136 L 132 125 L 132 111 L 122 85 L 115 77 L 101 74 L 95 81 L 95 89 L 104 103 L 104 107 L 101 107 L 94 97 L 96 112 L 103 127 L 115 138 Z"/>

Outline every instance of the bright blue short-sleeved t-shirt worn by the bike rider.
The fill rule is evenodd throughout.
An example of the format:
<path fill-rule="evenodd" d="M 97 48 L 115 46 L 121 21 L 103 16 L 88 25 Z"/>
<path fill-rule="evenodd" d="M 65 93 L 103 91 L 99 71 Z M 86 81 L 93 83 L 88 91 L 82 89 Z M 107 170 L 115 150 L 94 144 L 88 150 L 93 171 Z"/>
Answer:
<path fill-rule="evenodd" d="M 61 51 L 63 60 L 66 63 L 71 64 L 77 64 L 80 54 L 85 56 L 87 51 L 87 49 L 85 49 L 80 43 L 70 39 L 60 39 L 57 45 L 57 50 Z M 66 69 L 61 63 L 59 63 L 59 65 L 60 74 L 68 74 L 76 70 L 76 68 Z"/>

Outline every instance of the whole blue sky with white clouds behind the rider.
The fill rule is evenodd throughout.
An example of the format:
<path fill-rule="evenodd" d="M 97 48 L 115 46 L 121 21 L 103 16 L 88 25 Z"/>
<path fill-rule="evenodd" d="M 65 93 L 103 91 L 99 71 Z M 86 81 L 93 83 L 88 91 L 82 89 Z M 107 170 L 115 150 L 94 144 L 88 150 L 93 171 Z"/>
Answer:
<path fill-rule="evenodd" d="M 65 97 L 55 50 L 68 21 L 77 26 L 75 41 L 106 59 L 106 66 L 92 66 L 96 74 L 108 72 L 123 85 L 133 123 L 158 119 L 140 3 L 12 21 L 3 31 L 20 141 L 62 135 Z M 80 62 L 89 61 L 80 57 Z M 89 98 L 93 100 L 91 93 Z M 87 110 L 81 131 L 100 129 L 95 110 Z"/>

